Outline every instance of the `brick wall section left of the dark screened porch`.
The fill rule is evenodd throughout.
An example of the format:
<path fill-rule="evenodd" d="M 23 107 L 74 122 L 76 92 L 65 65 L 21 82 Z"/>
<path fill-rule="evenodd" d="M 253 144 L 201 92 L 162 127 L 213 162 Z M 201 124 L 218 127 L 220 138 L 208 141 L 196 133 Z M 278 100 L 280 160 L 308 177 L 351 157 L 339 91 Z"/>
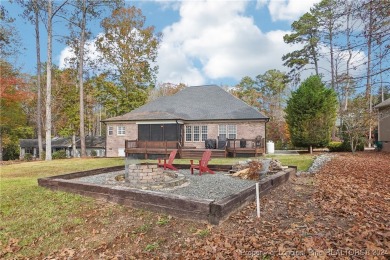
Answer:
<path fill-rule="evenodd" d="M 114 127 L 113 135 L 108 135 L 108 127 Z M 125 126 L 125 135 L 118 135 L 118 126 Z M 136 140 L 138 138 L 138 126 L 135 123 L 107 123 L 107 144 L 106 156 L 118 157 L 120 150 L 125 149 L 125 140 Z M 124 156 L 124 155 L 123 155 Z"/>

